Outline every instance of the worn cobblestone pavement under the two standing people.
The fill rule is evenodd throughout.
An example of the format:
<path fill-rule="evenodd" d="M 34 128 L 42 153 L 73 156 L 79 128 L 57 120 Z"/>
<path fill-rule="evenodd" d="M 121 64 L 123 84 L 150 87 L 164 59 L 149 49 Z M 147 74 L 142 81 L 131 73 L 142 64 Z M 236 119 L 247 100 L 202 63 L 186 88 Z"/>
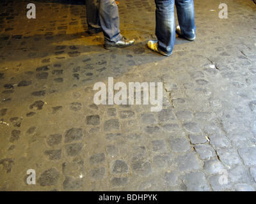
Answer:
<path fill-rule="evenodd" d="M 164 57 L 146 47 L 154 1 L 120 0 L 136 43 L 116 50 L 86 33 L 83 1 L 1 1 L 1 191 L 255 191 L 256 5 L 224 3 L 228 18 L 195 0 L 196 40 Z M 163 110 L 95 105 L 108 77 L 163 82 Z"/>

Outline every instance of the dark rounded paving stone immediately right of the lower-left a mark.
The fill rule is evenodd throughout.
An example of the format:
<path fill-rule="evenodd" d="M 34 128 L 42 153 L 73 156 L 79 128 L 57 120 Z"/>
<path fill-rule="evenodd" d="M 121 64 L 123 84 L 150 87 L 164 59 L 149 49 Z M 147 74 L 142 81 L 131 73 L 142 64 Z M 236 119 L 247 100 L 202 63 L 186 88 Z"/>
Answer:
<path fill-rule="evenodd" d="M 56 168 L 50 168 L 40 175 L 37 182 L 40 186 L 53 186 L 57 184 L 59 177 L 60 171 L 56 170 Z"/>

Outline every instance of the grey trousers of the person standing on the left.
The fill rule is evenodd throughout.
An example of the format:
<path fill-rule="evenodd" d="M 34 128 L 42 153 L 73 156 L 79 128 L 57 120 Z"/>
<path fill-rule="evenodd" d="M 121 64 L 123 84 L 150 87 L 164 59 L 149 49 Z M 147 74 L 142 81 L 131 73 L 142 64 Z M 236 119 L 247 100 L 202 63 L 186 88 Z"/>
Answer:
<path fill-rule="evenodd" d="M 122 35 L 115 0 L 85 0 L 85 4 L 89 31 L 99 33 L 102 29 L 105 41 L 119 41 Z"/>

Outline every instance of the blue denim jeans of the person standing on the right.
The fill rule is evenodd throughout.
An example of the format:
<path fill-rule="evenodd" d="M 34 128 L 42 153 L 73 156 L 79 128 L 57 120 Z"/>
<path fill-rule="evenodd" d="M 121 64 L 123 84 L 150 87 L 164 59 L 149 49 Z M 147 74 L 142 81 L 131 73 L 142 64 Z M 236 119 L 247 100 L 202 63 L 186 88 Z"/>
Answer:
<path fill-rule="evenodd" d="M 193 0 L 155 0 L 157 49 L 172 54 L 175 43 L 174 5 L 181 33 L 186 38 L 195 37 L 195 10 Z"/>

